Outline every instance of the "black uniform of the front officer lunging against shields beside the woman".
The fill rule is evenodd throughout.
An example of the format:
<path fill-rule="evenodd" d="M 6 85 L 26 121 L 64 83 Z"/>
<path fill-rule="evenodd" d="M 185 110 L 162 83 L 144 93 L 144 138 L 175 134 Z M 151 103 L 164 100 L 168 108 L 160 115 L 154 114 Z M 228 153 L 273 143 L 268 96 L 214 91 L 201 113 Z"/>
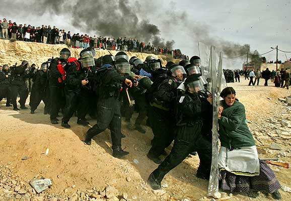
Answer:
<path fill-rule="evenodd" d="M 211 113 L 211 105 L 199 99 L 195 94 L 186 92 L 177 98 L 177 116 L 179 121 L 175 128 L 175 141 L 170 155 L 152 172 L 149 182 L 159 184 L 164 176 L 179 165 L 190 152 L 198 152 L 200 165 L 197 174 L 209 178 L 211 168 L 211 143 L 202 133 L 203 116 Z M 152 187 L 155 187 L 152 185 Z"/>

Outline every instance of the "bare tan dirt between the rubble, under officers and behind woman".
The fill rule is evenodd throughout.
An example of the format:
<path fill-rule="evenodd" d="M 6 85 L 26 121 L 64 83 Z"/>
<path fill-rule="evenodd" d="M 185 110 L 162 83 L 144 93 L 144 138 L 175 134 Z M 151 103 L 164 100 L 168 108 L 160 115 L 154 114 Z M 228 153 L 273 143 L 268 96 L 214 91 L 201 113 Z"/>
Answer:
<path fill-rule="evenodd" d="M 286 89 L 247 86 L 246 82 L 230 85 L 235 87 L 238 98 L 246 107 L 247 119 L 252 121 L 249 124 L 251 129 L 258 129 L 257 127 L 272 116 L 273 111 L 281 112 L 283 107 L 275 104 L 276 97 L 288 94 Z M 269 100 L 266 96 L 273 99 Z M 150 172 L 157 167 L 146 156 L 152 139 L 149 128 L 147 134 L 142 135 L 127 130 L 123 124 L 122 132 L 127 137 L 122 140 L 122 144 L 130 154 L 124 160 L 120 160 L 111 156 L 108 130 L 95 137 L 92 146 L 85 146 L 81 139 L 89 127 L 77 125 L 76 117 L 70 121 L 71 129 L 63 129 L 60 125 L 53 126 L 49 123 L 49 116 L 43 115 L 43 105 L 36 114 L 31 115 L 29 110 L 12 111 L 12 108 L 6 108 L 2 101 L 0 119 L 0 165 L 7 165 L 13 175 L 18 175 L 25 182 L 36 174 L 51 178 L 53 186 L 46 190 L 47 193 L 67 197 L 79 188 L 81 191 L 93 187 L 103 190 L 110 184 L 120 192 L 126 192 L 129 198 L 134 200 L 170 200 L 170 196 L 172 200 L 181 200 L 185 197 L 196 200 L 206 194 L 207 182 L 193 176 L 198 166 L 197 156 L 187 158 L 166 175 L 163 182 L 168 183 L 169 187 L 164 188 L 167 191 L 165 195 L 160 197 L 153 194 L 151 188 L 145 184 Z M 90 120 L 91 125 L 94 123 L 94 120 Z M 264 146 L 267 146 L 270 140 L 264 141 L 266 141 Z M 285 147 L 290 148 L 290 144 Z M 49 154 L 44 156 L 41 153 L 47 148 Z M 272 155 L 277 153 L 268 156 Z M 21 160 L 24 156 L 28 156 L 29 159 Z M 282 160 L 291 162 L 287 157 Z M 279 169 L 276 175 L 282 184 L 290 186 L 289 169 Z M 126 177 L 130 177 L 131 180 L 128 182 Z M 72 185 L 76 185 L 76 188 L 71 188 Z M 0 187 L 0 199 L 2 190 Z M 283 200 L 291 199 L 290 193 L 282 192 L 282 195 Z M 265 196 L 261 195 L 253 200 L 265 199 Z M 229 200 L 249 200 L 249 198 L 236 195 Z"/>

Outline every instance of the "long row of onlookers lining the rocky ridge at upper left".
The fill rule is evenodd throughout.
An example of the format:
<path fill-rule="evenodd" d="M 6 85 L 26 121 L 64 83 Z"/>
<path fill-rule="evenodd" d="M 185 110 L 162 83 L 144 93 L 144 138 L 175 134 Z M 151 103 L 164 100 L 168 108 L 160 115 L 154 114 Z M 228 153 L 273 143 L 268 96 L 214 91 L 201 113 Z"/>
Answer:
<path fill-rule="evenodd" d="M 50 25 L 34 27 L 31 25 L 17 25 L 11 20 L 0 20 L 0 38 L 21 40 L 26 42 L 37 42 L 46 44 L 65 44 L 73 48 L 98 48 L 105 50 L 122 50 L 130 52 L 145 52 L 154 54 L 172 55 L 175 59 L 189 60 L 189 57 L 182 54 L 179 49 L 171 50 L 168 47 L 154 47 L 149 42 L 139 41 L 135 38 L 107 38 L 103 36 L 89 36 L 88 34 L 71 34 L 70 31 L 58 29 Z"/>

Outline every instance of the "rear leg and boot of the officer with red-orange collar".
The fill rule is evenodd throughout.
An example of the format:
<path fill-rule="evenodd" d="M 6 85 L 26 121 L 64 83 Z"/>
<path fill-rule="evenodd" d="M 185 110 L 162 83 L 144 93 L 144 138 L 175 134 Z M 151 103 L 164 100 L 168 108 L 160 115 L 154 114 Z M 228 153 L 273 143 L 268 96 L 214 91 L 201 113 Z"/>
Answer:
<path fill-rule="evenodd" d="M 64 128 L 70 128 L 68 125 L 69 119 L 76 112 L 76 108 L 78 106 L 78 95 L 74 91 L 66 91 L 65 94 L 65 108 L 63 111 L 63 118 L 61 126 Z"/>

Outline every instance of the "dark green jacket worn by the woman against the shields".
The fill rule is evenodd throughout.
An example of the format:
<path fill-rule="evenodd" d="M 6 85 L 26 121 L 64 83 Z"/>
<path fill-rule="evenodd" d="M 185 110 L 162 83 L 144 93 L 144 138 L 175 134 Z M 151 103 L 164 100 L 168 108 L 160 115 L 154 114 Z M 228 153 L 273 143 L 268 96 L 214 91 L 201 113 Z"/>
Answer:
<path fill-rule="evenodd" d="M 245 107 L 238 100 L 234 105 L 228 106 L 225 100 L 221 101 L 224 110 L 219 120 L 219 134 L 221 146 L 238 148 L 254 146 L 254 138 L 245 122 Z"/>

